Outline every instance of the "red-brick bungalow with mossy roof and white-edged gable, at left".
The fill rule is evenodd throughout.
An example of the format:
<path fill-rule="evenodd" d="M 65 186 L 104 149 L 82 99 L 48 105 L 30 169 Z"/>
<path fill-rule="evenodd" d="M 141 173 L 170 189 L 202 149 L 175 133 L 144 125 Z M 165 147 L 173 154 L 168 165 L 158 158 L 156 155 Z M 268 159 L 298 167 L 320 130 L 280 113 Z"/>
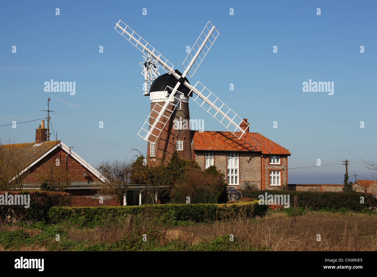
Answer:
<path fill-rule="evenodd" d="M 104 182 L 100 173 L 88 164 L 83 158 L 72 151 L 60 140 L 47 141 L 47 129 L 44 120 L 35 129 L 35 142 L 2 145 L 5 149 L 12 149 L 14 158 L 23 171 L 29 170 L 28 176 L 23 180 L 24 189 L 38 189 L 38 173 L 48 170 L 51 165 L 66 168 L 73 176 L 72 184 L 66 192 L 71 194 L 71 206 L 103 206 L 99 200 L 92 199 L 97 193 L 96 187 Z M 23 171 L 20 171 L 21 173 Z M 88 197 L 84 197 L 88 196 Z M 107 205 L 120 205 L 116 199 L 106 201 Z"/>

